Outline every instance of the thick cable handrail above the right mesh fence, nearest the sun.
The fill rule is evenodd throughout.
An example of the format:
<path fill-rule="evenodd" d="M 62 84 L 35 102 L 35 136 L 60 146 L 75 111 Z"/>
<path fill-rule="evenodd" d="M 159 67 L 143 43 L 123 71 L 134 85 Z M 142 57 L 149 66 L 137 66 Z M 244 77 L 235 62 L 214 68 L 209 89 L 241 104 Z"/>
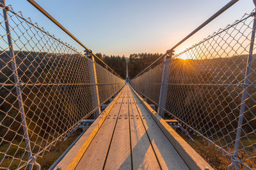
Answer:
<path fill-rule="evenodd" d="M 28 0 L 29 1 L 29 0 Z M 214 13 L 214 15 L 212 15 L 210 18 L 208 18 L 207 20 L 205 20 L 205 22 L 201 25 L 199 25 L 194 31 L 192 31 L 191 33 L 188 34 L 188 36 L 186 36 L 185 38 L 183 38 L 181 41 L 179 41 L 179 43 L 177 43 L 175 46 L 173 46 L 172 48 L 170 48 L 170 50 L 167 50 L 166 53 L 164 53 L 163 55 L 161 55 L 158 59 L 156 59 L 154 62 L 152 62 L 152 64 L 150 64 L 149 66 L 147 66 L 145 69 L 143 69 L 143 71 L 141 71 L 139 74 L 137 74 L 135 77 L 137 77 L 138 75 L 140 75 L 141 73 L 143 73 L 145 70 L 147 70 L 149 67 L 151 67 L 153 64 L 155 64 L 158 60 L 162 59 L 165 55 L 168 55 L 170 53 L 173 52 L 173 50 L 175 48 L 177 48 L 177 46 L 179 46 L 180 44 L 182 44 L 184 41 L 186 41 L 188 38 L 190 38 L 191 36 L 193 36 L 193 34 L 195 34 L 196 32 L 198 32 L 200 29 L 202 29 L 205 25 L 209 24 L 212 20 L 214 20 L 216 17 L 218 17 L 219 15 L 221 15 L 221 13 L 223 13 L 224 11 L 226 11 L 228 8 L 230 8 L 233 4 L 237 3 L 237 1 L 239 0 L 231 0 L 229 3 L 227 3 L 225 6 L 223 6 L 220 10 L 218 10 L 216 13 Z"/>

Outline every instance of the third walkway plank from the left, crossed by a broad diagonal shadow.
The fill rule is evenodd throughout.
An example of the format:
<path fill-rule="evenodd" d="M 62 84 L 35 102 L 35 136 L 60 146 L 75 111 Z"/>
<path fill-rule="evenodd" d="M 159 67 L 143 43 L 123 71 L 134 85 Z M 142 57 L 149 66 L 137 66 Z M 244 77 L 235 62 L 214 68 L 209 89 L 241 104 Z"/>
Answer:
<path fill-rule="evenodd" d="M 131 91 L 129 92 L 129 117 L 133 169 L 160 169 Z"/>

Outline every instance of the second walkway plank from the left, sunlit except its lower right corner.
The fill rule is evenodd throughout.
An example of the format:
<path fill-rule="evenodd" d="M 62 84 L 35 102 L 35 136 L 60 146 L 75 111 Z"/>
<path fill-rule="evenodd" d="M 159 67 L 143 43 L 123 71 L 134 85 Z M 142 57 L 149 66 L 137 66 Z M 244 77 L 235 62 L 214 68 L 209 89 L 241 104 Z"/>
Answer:
<path fill-rule="evenodd" d="M 128 89 L 124 91 L 125 98 L 116 122 L 105 169 L 132 169 L 127 92 Z"/>

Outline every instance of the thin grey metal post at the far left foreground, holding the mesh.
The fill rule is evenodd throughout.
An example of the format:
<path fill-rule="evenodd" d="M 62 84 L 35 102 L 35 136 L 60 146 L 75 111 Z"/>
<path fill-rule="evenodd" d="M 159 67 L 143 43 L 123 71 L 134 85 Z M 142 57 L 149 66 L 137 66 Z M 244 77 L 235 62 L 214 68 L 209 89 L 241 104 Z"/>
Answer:
<path fill-rule="evenodd" d="M 5 6 L 5 0 L 0 0 L 0 3 L 3 6 Z M 29 135 L 28 135 L 28 127 L 27 127 L 27 123 L 26 123 L 26 115 L 25 115 L 25 111 L 24 111 L 24 103 L 22 100 L 22 90 L 20 89 L 20 85 L 22 85 L 22 83 L 20 83 L 19 75 L 18 75 L 18 71 L 17 71 L 17 63 L 15 60 L 15 55 L 14 55 L 14 51 L 13 51 L 12 37 L 11 37 L 9 21 L 8 21 L 8 17 L 7 17 L 7 10 L 8 10 L 7 6 L 5 8 L 3 8 L 3 15 L 4 15 L 4 22 L 5 22 L 5 28 L 6 28 L 6 35 L 7 35 L 7 39 L 8 39 L 10 57 L 12 58 L 12 70 L 13 70 L 13 77 L 14 77 L 14 81 L 15 81 L 15 89 L 17 92 L 17 99 L 19 101 L 19 113 L 20 113 L 20 117 L 21 117 L 21 124 L 22 124 L 22 129 L 24 132 L 24 138 L 26 141 L 26 151 L 28 152 L 28 159 L 33 159 L 30 141 L 29 141 Z M 33 162 L 33 163 L 35 164 L 35 162 Z M 32 169 L 32 168 L 33 168 L 33 166 L 30 165 L 29 169 Z"/>

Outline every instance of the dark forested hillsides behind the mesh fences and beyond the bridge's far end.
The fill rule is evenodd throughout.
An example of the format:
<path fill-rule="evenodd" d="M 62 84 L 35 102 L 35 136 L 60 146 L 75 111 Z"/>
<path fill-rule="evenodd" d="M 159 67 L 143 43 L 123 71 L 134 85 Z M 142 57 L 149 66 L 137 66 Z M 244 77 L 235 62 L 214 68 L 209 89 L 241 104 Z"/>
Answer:
<path fill-rule="evenodd" d="M 64 55 L 60 53 L 24 51 L 15 53 L 17 54 L 16 62 L 19 65 L 17 71 L 20 80 L 28 84 L 21 87 L 22 97 L 32 152 L 37 153 L 49 145 L 60 134 L 67 131 L 71 126 L 70 124 L 65 124 L 65 122 L 68 122 L 67 120 L 78 122 L 81 118 L 89 116 L 86 114 L 90 113 L 93 106 L 92 101 L 87 101 L 87 99 L 91 99 L 92 94 L 90 87 L 87 87 L 85 84 L 89 81 L 88 74 L 90 74 L 90 67 L 84 66 L 90 65 L 92 61 L 77 54 Z M 121 57 L 119 55 L 109 56 L 102 53 L 96 53 L 95 55 L 106 62 L 122 78 L 126 76 L 126 60 L 128 60 L 129 78 L 132 79 L 162 54 L 132 53 L 129 57 Z M 22 138 L 23 130 L 20 125 L 20 114 L 18 114 L 19 103 L 17 101 L 17 93 L 13 86 L 14 79 L 10 57 L 8 57 L 6 52 L 1 52 L 0 57 L 2 60 L 0 62 L 0 82 L 10 84 L 0 89 L 0 120 L 2 120 L 0 125 L 0 136 L 2 137 L 0 143 L 0 160 L 4 160 L 0 163 L 0 166 L 7 167 L 12 162 L 11 169 L 15 169 L 20 164 L 19 158 L 22 157 L 22 162 L 28 159 L 26 155 L 23 156 L 26 142 Z M 232 82 L 237 84 L 243 80 L 243 76 L 240 73 L 245 67 L 245 60 L 245 55 L 239 57 L 234 56 L 230 59 L 217 58 L 214 60 L 173 59 L 171 62 L 172 65 L 170 65 L 170 73 L 179 74 L 172 74 L 170 81 L 173 83 L 211 84 L 216 82 Z M 163 62 L 163 60 L 159 62 Z M 98 63 L 100 64 L 100 62 Z M 256 67 L 255 64 L 256 62 L 253 60 L 253 68 Z M 100 65 L 102 66 L 102 64 Z M 205 66 L 211 67 L 210 71 Z M 157 71 L 156 75 L 151 75 L 150 82 L 158 81 L 157 77 L 160 78 L 158 83 L 161 82 L 161 72 Z M 185 78 L 187 81 L 185 81 Z M 254 83 L 255 80 L 255 74 L 251 74 L 250 81 Z M 69 82 L 84 83 L 84 85 L 65 85 L 65 83 Z M 54 87 L 52 86 L 53 83 L 60 85 Z M 47 84 L 47 86 L 44 84 Z M 150 94 L 147 96 L 149 97 L 150 95 L 156 96 L 154 92 L 158 92 L 154 90 L 156 87 L 152 88 L 152 90 L 148 90 Z M 100 93 L 105 89 L 99 89 Z M 233 127 L 237 127 L 235 120 L 239 115 L 239 104 L 241 103 L 241 98 L 237 93 L 241 95 L 242 90 L 241 87 L 234 87 L 232 85 L 226 87 L 190 87 L 188 85 L 181 87 L 173 85 L 170 87 L 167 95 L 167 101 L 169 102 L 167 110 L 175 113 L 175 111 L 178 111 L 175 108 L 179 108 L 176 114 L 182 113 L 186 115 L 188 122 L 190 120 L 196 120 L 190 124 L 196 129 L 200 129 L 202 124 L 209 125 L 206 131 L 203 129 L 201 132 L 207 135 L 214 133 L 211 136 L 213 140 L 218 138 L 218 136 L 231 136 L 231 138 L 234 138 L 235 131 Z M 81 93 L 82 91 L 83 93 Z M 170 92 L 176 93 L 171 95 Z M 246 106 L 248 108 L 246 108 L 244 121 L 250 120 L 250 122 L 243 125 L 243 129 L 244 132 L 250 134 L 249 137 L 254 145 L 256 138 L 252 129 L 255 129 L 255 118 L 251 113 L 255 113 L 255 87 L 248 88 L 248 92 L 251 97 L 246 100 Z M 65 94 L 65 96 L 62 94 Z M 105 98 L 100 99 L 100 101 L 104 101 Z M 175 107 L 170 107 L 170 103 Z M 81 108 L 80 106 L 86 107 Z M 40 157 L 37 161 L 42 164 L 44 163 L 42 167 L 48 168 L 60 157 L 61 153 L 68 147 L 68 144 L 72 143 L 76 135 L 78 134 L 70 136 L 65 145 L 60 145 L 61 139 L 56 141 L 56 145 L 49 148 L 47 150 L 49 152 L 45 152 L 44 157 Z M 246 146 L 246 151 L 255 157 L 255 153 L 252 153 L 252 144 L 247 138 L 248 136 L 243 135 L 243 145 Z M 227 145 L 222 139 L 219 139 L 217 144 Z M 225 140 L 228 144 L 232 144 L 231 139 Z M 8 141 L 12 141 L 12 143 Z M 7 156 L 4 153 L 7 153 Z M 54 154 L 52 155 L 52 153 Z M 47 159 L 49 155 L 52 156 L 50 156 L 50 159 Z M 13 160 L 13 157 L 17 159 Z"/>

